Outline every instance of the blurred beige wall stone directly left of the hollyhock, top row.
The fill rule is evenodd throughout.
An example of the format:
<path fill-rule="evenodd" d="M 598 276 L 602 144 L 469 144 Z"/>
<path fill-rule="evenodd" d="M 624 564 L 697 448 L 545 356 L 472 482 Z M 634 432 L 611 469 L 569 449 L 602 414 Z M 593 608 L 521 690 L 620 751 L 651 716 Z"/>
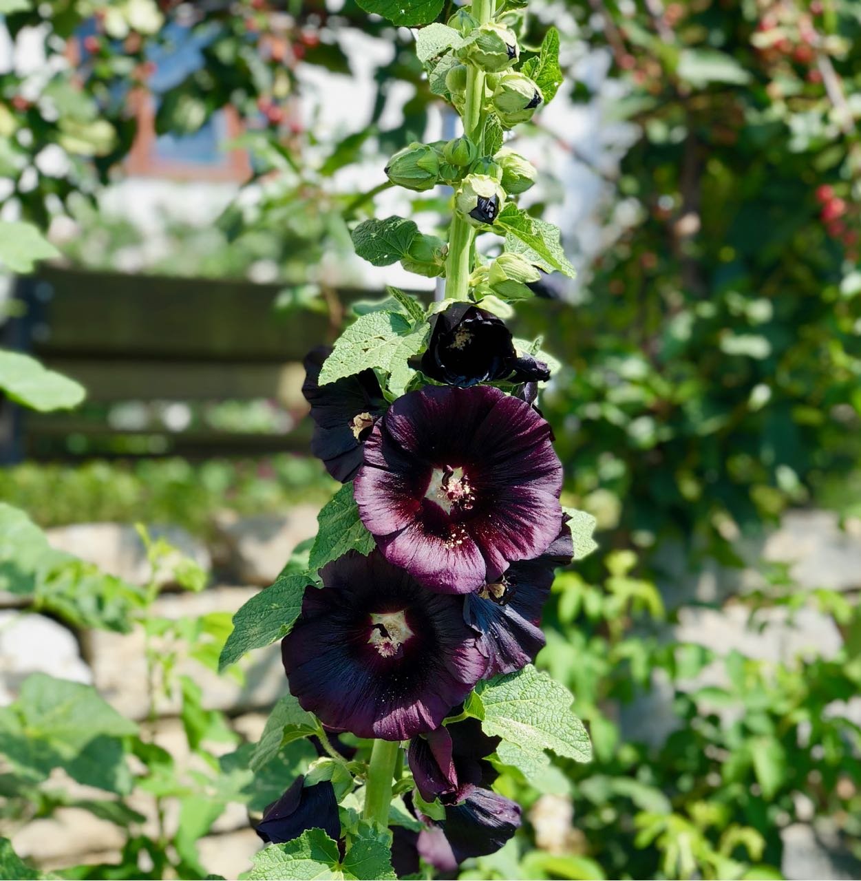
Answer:
<path fill-rule="evenodd" d="M 296 505 L 286 515 L 222 518 L 219 534 L 236 578 L 262 586 L 275 581 L 293 548 L 316 534 L 319 511 L 315 505 Z"/>

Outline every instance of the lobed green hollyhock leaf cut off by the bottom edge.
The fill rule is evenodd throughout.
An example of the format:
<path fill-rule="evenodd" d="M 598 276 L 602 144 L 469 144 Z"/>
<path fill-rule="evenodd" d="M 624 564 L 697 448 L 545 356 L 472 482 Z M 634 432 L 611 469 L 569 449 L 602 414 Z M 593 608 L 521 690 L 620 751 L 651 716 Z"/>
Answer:
<path fill-rule="evenodd" d="M 307 881 L 315 878 L 343 881 L 379 878 L 389 881 L 397 877 L 391 868 L 390 848 L 388 833 L 377 832 L 362 822 L 342 863 L 338 844 L 322 829 L 308 829 L 286 844 L 263 848 L 254 857 L 254 868 L 248 877 L 252 881 Z"/>

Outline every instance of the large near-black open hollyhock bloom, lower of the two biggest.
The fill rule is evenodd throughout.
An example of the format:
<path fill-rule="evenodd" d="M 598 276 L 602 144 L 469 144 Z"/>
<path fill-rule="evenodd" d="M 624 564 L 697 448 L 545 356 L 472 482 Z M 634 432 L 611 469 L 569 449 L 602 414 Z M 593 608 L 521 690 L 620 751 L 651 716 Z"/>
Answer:
<path fill-rule="evenodd" d="M 320 571 L 281 643 L 290 691 L 331 729 L 404 740 L 437 728 L 484 675 L 463 603 L 424 589 L 382 554 Z"/>

